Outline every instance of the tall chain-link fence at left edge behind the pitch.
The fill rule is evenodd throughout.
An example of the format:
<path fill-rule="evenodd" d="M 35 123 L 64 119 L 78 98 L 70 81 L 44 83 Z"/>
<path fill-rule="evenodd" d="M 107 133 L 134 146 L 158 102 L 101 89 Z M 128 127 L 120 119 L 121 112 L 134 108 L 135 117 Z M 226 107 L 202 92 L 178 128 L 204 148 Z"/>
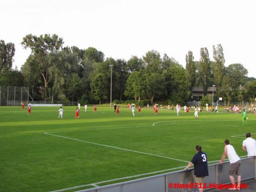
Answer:
<path fill-rule="evenodd" d="M 29 87 L 0 86 L 0 106 L 18 106 L 29 102 Z"/>

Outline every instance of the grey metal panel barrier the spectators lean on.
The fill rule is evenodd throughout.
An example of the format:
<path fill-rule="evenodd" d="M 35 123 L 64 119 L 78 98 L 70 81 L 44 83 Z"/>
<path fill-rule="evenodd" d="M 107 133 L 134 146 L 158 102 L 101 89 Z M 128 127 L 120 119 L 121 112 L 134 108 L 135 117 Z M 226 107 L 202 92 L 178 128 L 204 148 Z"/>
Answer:
<path fill-rule="evenodd" d="M 229 162 L 211 164 L 208 166 L 209 176 L 204 178 L 203 183 L 230 183 L 228 176 Z M 247 180 L 256 178 L 256 158 L 241 159 L 241 178 Z M 106 186 L 84 189 L 78 192 L 184 192 L 191 189 L 170 188 L 169 183 L 179 183 L 184 186 L 195 183 L 194 169 L 169 172 L 151 177 L 115 183 Z M 193 191 L 198 189 L 193 189 Z M 204 189 L 206 190 L 206 189 Z"/>

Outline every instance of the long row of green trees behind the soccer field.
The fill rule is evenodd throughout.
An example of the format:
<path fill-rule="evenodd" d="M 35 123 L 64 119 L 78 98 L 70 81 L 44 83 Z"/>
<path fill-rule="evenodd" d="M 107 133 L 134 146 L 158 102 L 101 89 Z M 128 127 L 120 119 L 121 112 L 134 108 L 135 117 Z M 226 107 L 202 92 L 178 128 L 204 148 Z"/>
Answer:
<path fill-rule="evenodd" d="M 206 47 L 201 48 L 199 61 L 189 51 L 186 67 L 174 58 L 156 50 L 142 58 L 105 58 L 93 47 L 63 47 L 58 35 L 26 35 L 21 45 L 31 54 L 22 65 L 12 69 L 15 45 L 0 41 L 0 85 L 29 86 L 29 98 L 44 101 L 79 101 L 81 103 L 110 102 L 111 65 L 112 101 L 163 102 L 166 104 L 193 100 L 192 87 L 207 88 L 215 84 L 216 97 L 228 102 L 252 99 L 256 96 L 256 81 L 247 77 L 242 64 L 224 66 L 221 44 L 212 47 L 213 61 Z M 243 89 L 241 89 L 241 86 Z M 205 98 L 204 98 L 205 99 Z"/>

